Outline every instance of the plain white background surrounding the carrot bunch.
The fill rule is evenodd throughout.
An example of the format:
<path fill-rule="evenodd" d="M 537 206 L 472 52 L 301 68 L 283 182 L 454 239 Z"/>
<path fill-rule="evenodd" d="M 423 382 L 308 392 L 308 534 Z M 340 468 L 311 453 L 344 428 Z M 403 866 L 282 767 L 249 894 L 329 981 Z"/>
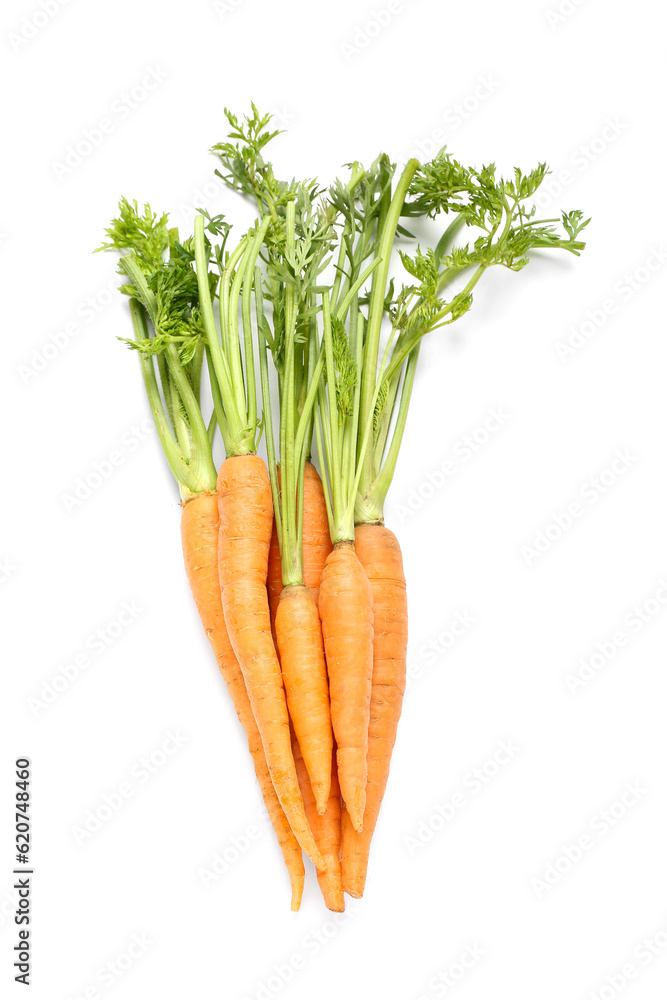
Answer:
<path fill-rule="evenodd" d="M 27 755 L 39 1000 L 664 997 L 665 270 L 643 269 L 652 250 L 665 260 L 664 37 L 648 0 L 561 6 L 403 0 L 367 30 L 382 0 L 70 0 L 48 19 L 30 0 L 4 5 L 3 995 L 23 995 L 11 983 L 12 764 Z M 128 108 L 151 70 L 162 79 Z M 579 260 L 489 274 L 472 312 L 424 349 L 387 505 L 414 679 L 366 897 L 341 926 L 312 869 L 290 913 L 265 827 L 208 889 L 198 874 L 256 825 L 260 796 L 188 593 L 176 490 L 156 439 L 132 430 L 147 408 L 136 359 L 115 340 L 129 318 L 105 292 L 114 261 L 90 252 L 120 194 L 187 226 L 223 107 L 251 99 L 289 130 L 273 148 L 279 176 L 326 181 L 381 149 L 404 160 L 446 140 L 503 170 L 546 160 L 552 181 L 567 171 L 546 214 L 593 216 Z M 112 130 L 99 146 L 59 170 L 102 118 Z M 250 218 L 231 195 L 208 203 Z M 556 345 L 587 320 L 592 335 L 563 360 Z M 36 371 L 68 324 L 76 335 Z M 493 407 L 508 416 L 490 433 Z M 486 441 L 468 461 L 472 433 Z M 590 481 L 618 449 L 631 460 L 601 494 Z M 64 494 L 112 451 L 121 464 L 68 511 Z M 429 489 L 448 460 L 456 474 Z M 552 519 L 575 502 L 581 516 L 556 537 Z M 550 524 L 547 551 L 530 558 L 524 547 Z M 123 602 L 140 612 L 95 654 L 89 637 Z M 633 625 L 642 605 L 648 620 Z M 474 623 L 454 641 L 457 613 Z M 619 631 L 625 645 L 573 693 L 567 675 Z M 35 712 L 29 699 L 82 652 L 90 665 Z M 140 761 L 175 731 L 186 741 L 143 782 Z M 497 773 L 476 792 L 470 772 L 502 740 L 520 749 L 487 763 Z M 88 810 L 128 781 L 132 796 L 78 844 Z M 610 828 L 601 811 L 633 782 Z M 457 792 L 465 805 L 441 821 L 436 807 Z M 429 830 L 410 850 L 406 838 Z M 126 965 L 135 934 L 146 950 L 122 978 L 100 978 Z M 467 946 L 481 957 L 448 986 Z M 283 985 L 293 956 L 302 968 Z"/>

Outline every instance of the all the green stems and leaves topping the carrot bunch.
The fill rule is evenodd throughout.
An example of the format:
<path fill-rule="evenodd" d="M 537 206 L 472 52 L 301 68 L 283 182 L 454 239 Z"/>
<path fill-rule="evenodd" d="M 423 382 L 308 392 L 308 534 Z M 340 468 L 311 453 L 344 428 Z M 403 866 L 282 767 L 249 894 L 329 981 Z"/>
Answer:
<path fill-rule="evenodd" d="M 202 211 L 194 237 L 181 243 L 166 215 L 149 206 L 140 213 L 136 202 L 122 199 L 100 249 L 123 252 L 134 324 L 128 343 L 140 354 L 181 493 L 214 488 L 216 425 L 228 456 L 254 454 L 266 429 L 283 577 L 300 582 L 301 487 L 313 430 L 331 536 L 352 539 L 355 522 L 382 521 L 422 338 L 470 309 L 490 267 L 521 270 L 539 249 L 578 255 L 589 220 L 579 211 L 535 218 L 544 163 L 529 173 L 515 168 L 508 179 L 493 164 L 466 167 L 445 148 L 428 163 L 409 160 L 400 174 L 385 154 L 367 169 L 355 161 L 349 180 L 326 190 L 315 180 L 281 181 L 265 159 L 279 134 L 269 129 L 271 116 L 254 104 L 243 119 L 225 114 L 230 132 L 213 147 L 216 172 L 259 213 L 238 245 L 226 249 L 230 227 L 222 216 Z M 434 246 L 398 249 L 401 239 L 414 240 L 405 220 L 437 222 L 443 213 L 453 221 Z M 471 238 L 459 244 L 464 227 Z M 410 280 L 395 288 L 390 273 L 399 262 Z M 279 383 L 277 446 L 268 351 Z M 208 421 L 200 406 L 204 357 L 213 400 Z"/>

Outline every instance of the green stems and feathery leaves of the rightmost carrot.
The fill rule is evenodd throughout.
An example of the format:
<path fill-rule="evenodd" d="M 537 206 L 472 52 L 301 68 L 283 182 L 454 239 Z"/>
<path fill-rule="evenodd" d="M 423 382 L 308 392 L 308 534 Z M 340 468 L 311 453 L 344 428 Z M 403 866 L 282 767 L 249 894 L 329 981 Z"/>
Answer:
<path fill-rule="evenodd" d="M 506 180 L 496 176 L 493 164 L 480 170 L 464 167 L 442 149 L 429 163 L 410 160 L 393 193 L 383 194 L 386 208 L 378 215 L 374 241 L 379 266 L 368 300 L 366 337 L 362 356 L 359 448 L 362 432 L 372 421 L 372 440 L 365 448 L 356 497 L 357 523 L 382 521 L 384 501 L 398 458 L 419 356 L 427 333 L 455 322 L 472 305 L 472 292 L 495 264 L 521 270 L 534 249 L 563 249 L 578 255 L 585 244 L 578 239 L 589 220 L 579 211 L 560 219 L 535 219 L 529 203 L 547 173 L 540 164 L 528 174 L 518 168 Z M 399 235 L 409 235 L 401 217 L 429 217 L 454 213 L 437 245 L 414 256 L 398 255 L 412 282 L 394 291 L 388 283 L 390 255 Z M 359 212 L 354 206 L 354 214 Z M 363 221 L 363 220 L 362 220 Z M 561 223 L 562 232 L 556 228 Z M 477 232 L 474 242 L 455 246 L 463 225 Z M 454 293 L 443 292 L 449 286 Z M 380 361 L 382 328 L 388 332 Z"/>

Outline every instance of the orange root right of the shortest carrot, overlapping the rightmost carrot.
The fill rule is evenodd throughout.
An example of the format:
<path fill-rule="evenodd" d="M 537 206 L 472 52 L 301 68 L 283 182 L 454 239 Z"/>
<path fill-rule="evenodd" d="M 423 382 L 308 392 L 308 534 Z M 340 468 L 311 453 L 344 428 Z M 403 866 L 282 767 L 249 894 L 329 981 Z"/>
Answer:
<path fill-rule="evenodd" d="M 373 595 L 352 542 L 338 542 L 327 558 L 320 583 L 320 617 L 338 780 L 352 825 L 361 832 L 368 773 Z"/>

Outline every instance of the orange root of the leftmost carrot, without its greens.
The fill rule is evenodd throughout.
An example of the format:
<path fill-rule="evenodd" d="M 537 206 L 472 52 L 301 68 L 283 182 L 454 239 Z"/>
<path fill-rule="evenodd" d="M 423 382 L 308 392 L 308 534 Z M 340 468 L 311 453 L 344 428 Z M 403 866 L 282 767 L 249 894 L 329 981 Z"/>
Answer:
<path fill-rule="evenodd" d="M 246 736 L 255 774 L 292 883 L 292 909 L 298 910 L 303 893 L 301 848 L 290 829 L 271 782 L 255 717 L 243 675 L 225 626 L 218 582 L 218 500 L 214 493 L 200 493 L 183 505 L 181 539 L 185 569 L 199 617 Z"/>

